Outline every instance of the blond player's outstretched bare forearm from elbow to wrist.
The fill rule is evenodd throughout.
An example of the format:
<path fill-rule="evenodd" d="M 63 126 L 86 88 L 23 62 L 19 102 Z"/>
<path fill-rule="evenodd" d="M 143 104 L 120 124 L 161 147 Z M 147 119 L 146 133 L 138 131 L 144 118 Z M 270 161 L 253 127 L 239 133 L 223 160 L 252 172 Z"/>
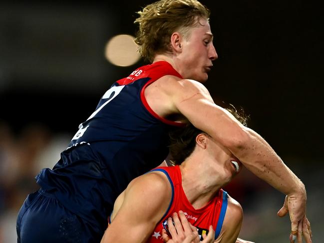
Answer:
<path fill-rule="evenodd" d="M 245 167 L 286 195 L 304 193 L 304 184 L 271 146 L 255 131 L 247 128 L 246 132 L 245 144 L 232 151 Z"/>

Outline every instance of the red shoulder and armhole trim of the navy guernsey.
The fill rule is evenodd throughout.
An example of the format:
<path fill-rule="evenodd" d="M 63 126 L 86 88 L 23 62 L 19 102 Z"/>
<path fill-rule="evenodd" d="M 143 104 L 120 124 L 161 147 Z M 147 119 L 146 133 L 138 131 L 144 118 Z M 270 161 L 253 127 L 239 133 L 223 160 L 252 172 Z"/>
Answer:
<path fill-rule="evenodd" d="M 159 72 L 154 72 L 154 73 L 150 73 L 149 74 L 149 77 L 151 78 L 150 81 L 148 81 L 142 88 L 141 90 L 141 100 L 142 100 L 142 103 L 143 105 L 145 106 L 145 108 L 148 110 L 148 112 L 150 112 L 156 119 L 159 119 L 160 121 L 162 121 L 163 123 L 166 123 L 168 125 L 172 125 L 172 126 L 177 126 L 177 127 L 182 127 L 184 126 L 185 124 L 184 123 L 181 123 L 181 122 L 174 122 L 174 121 L 170 121 L 170 120 L 167 120 L 161 116 L 159 116 L 158 114 L 156 114 L 152 109 L 151 107 L 149 106 L 149 104 L 147 103 L 146 101 L 146 98 L 145 98 L 145 95 L 144 95 L 144 90 L 145 88 L 150 85 L 151 83 L 153 83 L 154 81 L 156 81 L 158 78 L 160 77 L 163 77 L 165 75 L 173 75 L 173 76 L 176 76 L 176 77 L 179 77 L 179 78 L 183 78 L 173 67 L 170 63 L 166 62 L 166 61 L 158 61 L 158 62 L 155 62 L 151 65 L 156 65 L 156 66 L 164 66 L 163 69 L 162 69 L 162 73 Z M 150 66 L 150 65 L 148 65 Z M 143 73 L 145 73 L 145 69 L 143 70 Z"/>

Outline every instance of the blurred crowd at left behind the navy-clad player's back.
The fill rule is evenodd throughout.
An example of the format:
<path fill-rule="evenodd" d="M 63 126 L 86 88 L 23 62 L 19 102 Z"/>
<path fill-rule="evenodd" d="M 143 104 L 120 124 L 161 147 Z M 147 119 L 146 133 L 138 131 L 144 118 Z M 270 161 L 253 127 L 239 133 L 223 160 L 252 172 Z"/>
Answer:
<path fill-rule="evenodd" d="M 16 217 L 26 196 L 38 189 L 34 177 L 52 168 L 69 136 L 55 134 L 43 124 L 13 130 L 0 120 L 0 243 L 16 243 Z"/>

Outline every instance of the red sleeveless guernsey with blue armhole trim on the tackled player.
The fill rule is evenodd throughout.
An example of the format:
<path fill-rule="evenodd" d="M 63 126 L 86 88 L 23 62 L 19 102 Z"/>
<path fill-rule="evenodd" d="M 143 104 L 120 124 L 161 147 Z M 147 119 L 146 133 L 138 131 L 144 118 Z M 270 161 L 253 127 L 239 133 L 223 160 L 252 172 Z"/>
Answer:
<path fill-rule="evenodd" d="M 198 235 L 203 240 L 202 235 L 208 234 L 209 226 L 212 225 L 215 230 L 215 240 L 218 238 L 227 209 L 227 192 L 222 189 L 218 191 L 215 198 L 213 198 L 203 208 L 195 209 L 188 201 L 183 188 L 182 177 L 179 166 L 159 167 L 152 171 L 163 172 L 171 184 L 172 199 L 169 208 L 161 221 L 156 225 L 148 243 L 162 243 L 162 229 L 168 230 L 167 219 L 172 217 L 174 212 L 180 210 L 187 216 L 188 221 L 197 228 Z"/>

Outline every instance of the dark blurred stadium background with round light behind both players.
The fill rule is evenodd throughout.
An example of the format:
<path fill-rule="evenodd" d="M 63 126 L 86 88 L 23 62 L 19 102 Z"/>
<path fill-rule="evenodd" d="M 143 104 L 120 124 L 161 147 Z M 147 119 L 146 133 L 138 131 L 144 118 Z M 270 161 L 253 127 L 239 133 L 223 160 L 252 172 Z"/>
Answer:
<path fill-rule="evenodd" d="M 145 63 L 127 38 L 108 43 L 134 35 L 135 12 L 150 2 L 1 1 L 0 243 L 16 242 L 16 214 L 38 171 L 56 163 L 105 90 Z M 303 180 L 313 242 L 324 242 L 323 6 L 201 2 L 219 55 L 207 88 L 216 103 L 242 107 Z M 242 238 L 288 242 L 289 218 L 276 215 L 283 194 L 247 170 L 227 190 L 243 206 Z"/>

